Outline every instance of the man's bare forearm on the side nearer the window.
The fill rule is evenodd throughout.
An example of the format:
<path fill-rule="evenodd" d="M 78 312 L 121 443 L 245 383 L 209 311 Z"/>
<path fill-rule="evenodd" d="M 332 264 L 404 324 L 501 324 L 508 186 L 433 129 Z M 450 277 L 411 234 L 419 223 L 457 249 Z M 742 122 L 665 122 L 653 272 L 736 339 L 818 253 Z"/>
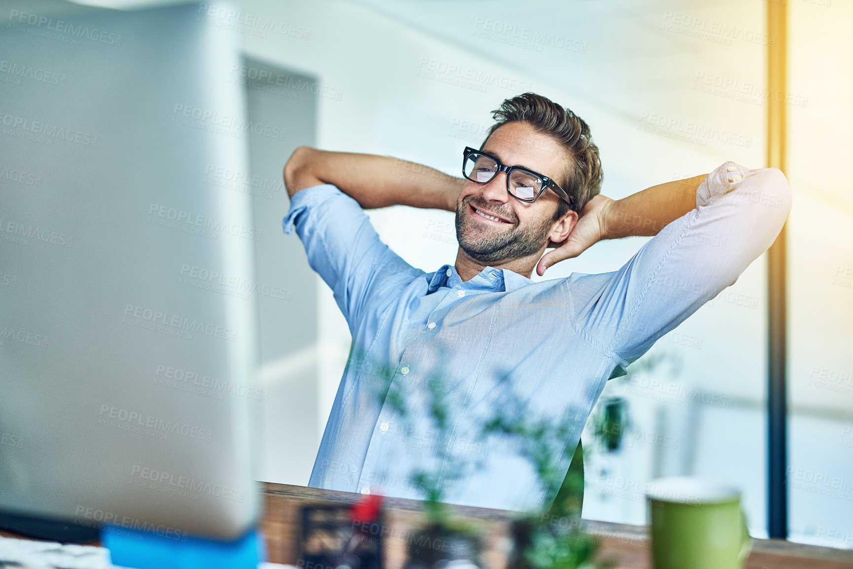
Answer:
<path fill-rule="evenodd" d="M 666 225 L 696 208 L 696 190 L 707 176 L 659 183 L 613 201 L 604 214 L 603 239 L 658 235 Z"/>

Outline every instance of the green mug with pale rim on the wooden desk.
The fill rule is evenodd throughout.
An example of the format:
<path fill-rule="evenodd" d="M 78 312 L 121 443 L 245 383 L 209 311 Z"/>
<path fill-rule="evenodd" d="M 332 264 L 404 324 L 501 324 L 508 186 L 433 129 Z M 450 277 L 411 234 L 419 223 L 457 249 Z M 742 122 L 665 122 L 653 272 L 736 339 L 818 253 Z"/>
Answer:
<path fill-rule="evenodd" d="M 740 491 L 672 477 L 646 486 L 654 569 L 742 569 L 752 547 Z"/>

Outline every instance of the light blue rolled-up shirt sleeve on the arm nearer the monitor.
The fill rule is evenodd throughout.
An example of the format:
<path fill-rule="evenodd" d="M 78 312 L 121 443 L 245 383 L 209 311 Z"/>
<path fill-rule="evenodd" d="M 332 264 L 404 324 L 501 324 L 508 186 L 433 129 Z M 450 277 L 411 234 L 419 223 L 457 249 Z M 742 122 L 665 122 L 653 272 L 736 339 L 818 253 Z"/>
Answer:
<path fill-rule="evenodd" d="M 296 230 L 308 264 L 332 289 L 351 334 L 366 311 L 390 302 L 395 287 L 424 272 L 380 241 L 358 202 L 330 183 L 294 194 L 282 229 L 286 235 Z"/>

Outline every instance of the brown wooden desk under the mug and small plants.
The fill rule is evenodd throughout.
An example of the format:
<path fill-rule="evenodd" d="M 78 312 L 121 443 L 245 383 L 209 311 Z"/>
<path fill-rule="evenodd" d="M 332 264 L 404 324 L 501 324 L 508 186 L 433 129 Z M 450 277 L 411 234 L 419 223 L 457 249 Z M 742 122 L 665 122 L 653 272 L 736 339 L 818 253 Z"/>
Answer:
<path fill-rule="evenodd" d="M 352 503 L 360 494 L 264 483 L 266 509 L 261 522 L 267 538 L 270 561 L 297 565 L 295 537 L 299 531 L 299 508 L 321 502 Z M 386 498 L 386 569 L 402 569 L 406 532 L 421 520 L 421 502 L 404 498 Z M 483 528 L 485 563 L 489 569 L 504 569 L 505 545 L 512 514 L 489 508 L 451 506 L 452 511 Z M 587 531 L 600 536 L 601 554 L 619 560 L 619 569 L 652 569 L 647 530 L 641 525 L 612 524 L 584 520 Z M 503 549 L 505 550 L 505 549 Z M 853 551 L 801 545 L 780 540 L 756 539 L 746 562 L 747 569 L 853 569 Z M 689 569 L 689 567 L 685 567 Z"/>

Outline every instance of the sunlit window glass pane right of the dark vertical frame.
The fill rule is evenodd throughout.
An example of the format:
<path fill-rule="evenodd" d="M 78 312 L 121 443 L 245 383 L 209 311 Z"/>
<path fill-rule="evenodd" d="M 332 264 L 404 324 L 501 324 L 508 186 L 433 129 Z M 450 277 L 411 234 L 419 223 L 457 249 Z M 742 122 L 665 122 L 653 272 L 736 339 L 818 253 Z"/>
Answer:
<path fill-rule="evenodd" d="M 853 4 L 789 9 L 788 525 L 853 549 Z"/>

